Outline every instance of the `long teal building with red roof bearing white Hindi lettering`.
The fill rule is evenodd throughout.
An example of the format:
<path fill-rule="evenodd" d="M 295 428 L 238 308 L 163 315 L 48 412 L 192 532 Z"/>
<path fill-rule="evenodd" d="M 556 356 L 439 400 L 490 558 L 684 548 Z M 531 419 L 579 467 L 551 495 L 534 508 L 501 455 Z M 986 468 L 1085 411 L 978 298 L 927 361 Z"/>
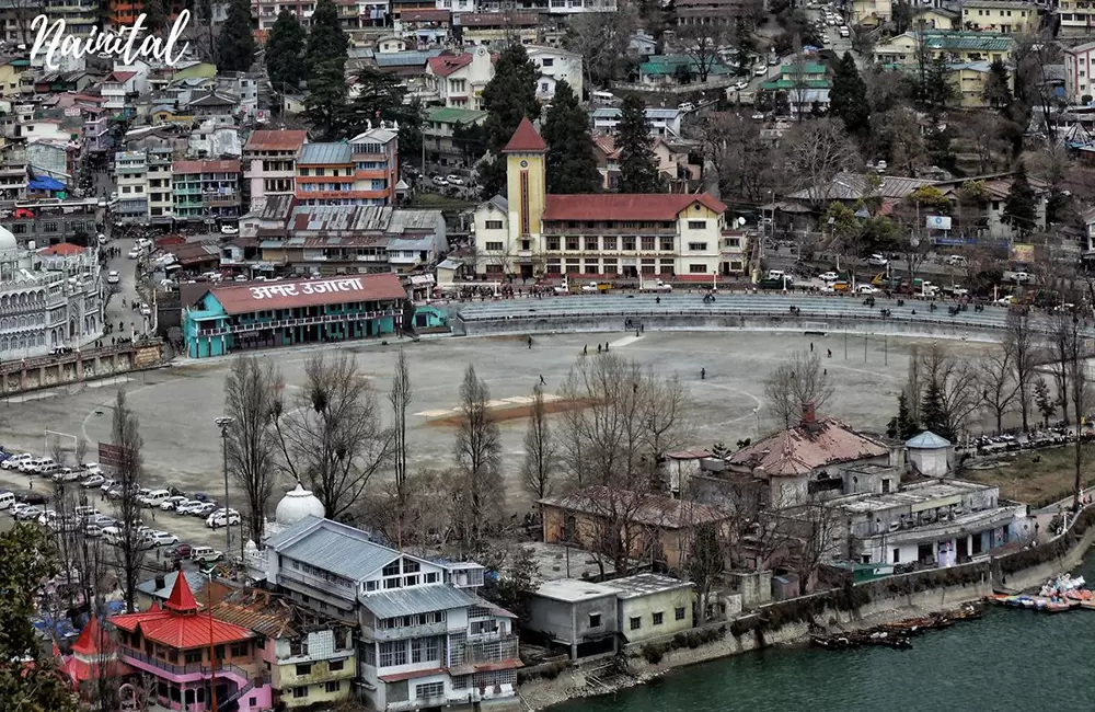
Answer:
<path fill-rule="evenodd" d="M 184 307 L 183 335 L 192 358 L 368 338 L 401 330 L 405 301 L 393 274 L 232 284 Z"/>

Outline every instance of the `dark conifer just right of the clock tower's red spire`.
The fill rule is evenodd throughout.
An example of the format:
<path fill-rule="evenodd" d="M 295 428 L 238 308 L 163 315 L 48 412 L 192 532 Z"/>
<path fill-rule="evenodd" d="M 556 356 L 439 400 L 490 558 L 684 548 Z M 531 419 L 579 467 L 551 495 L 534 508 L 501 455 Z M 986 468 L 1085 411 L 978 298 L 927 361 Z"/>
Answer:
<path fill-rule="evenodd" d="M 565 80 L 555 84 L 542 134 L 548 143 L 548 192 L 593 193 L 600 173 L 589 136 L 589 116 Z"/>

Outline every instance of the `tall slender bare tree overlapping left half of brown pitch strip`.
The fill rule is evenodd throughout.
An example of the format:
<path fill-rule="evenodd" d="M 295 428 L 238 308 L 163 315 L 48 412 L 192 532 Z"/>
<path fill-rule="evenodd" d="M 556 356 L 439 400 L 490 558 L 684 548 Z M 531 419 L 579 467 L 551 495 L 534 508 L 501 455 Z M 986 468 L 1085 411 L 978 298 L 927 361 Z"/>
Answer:
<path fill-rule="evenodd" d="M 502 435 L 489 407 L 491 390 L 468 365 L 460 386 L 460 425 L 453 456 L 462 493 L 461 542 L 477 550 L 483 525 L 497 514 L 502 495 Z"/>

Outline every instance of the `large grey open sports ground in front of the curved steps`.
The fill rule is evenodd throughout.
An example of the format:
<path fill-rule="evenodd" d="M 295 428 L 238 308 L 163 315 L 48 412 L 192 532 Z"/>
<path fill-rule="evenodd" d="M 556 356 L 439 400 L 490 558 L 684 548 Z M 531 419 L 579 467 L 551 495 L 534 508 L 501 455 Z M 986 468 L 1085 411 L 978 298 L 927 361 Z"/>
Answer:
<path fill-rule="evenodd" d="M 855 427 L 884 432 L 896 410 L 896 395 L 904 382 L 910 340 L 843 336 L 809 337 L 779 333 L 658 333 L 639 337 L 634 333 L 539 335 L 529 349 L 522 337 L 437 338 L 405 343 L 414 383 L 410 409 L 411 467 L 447 467 L 452 461 L 456 432 L 454 409 L 468 364 L 498 401 L 504 446 L 505 501 L 512 512 L 523 513 L 529 497 L 517 476 L 527 427 L 527 402 L 532 388 L 546 381 L 546 391 L 558 388 L 583 346 L 596 357 L 597 343 L 609 343 L 613 353 L 635 358 L 665 374 L 676 372 L 687 384 L 695 404 L 691 422 L 695 447 L 716 441 L 733 447 L 742 438 L 775 429 L 764 404 L 764 379 L 795 351 L 810 343 L 826 357 L 835 393 L 823 414 L 833 414 Z M 387 391 L 399 349 L 360 342 L 341 348 L 355 355 L 361 370 L 372 379 L 387 415 Z M 973 355 L 984 345 L 952 343 Z M 281 369 L 287 389 L 303 381 L 304 360 L 322 349 L 316 346 L 279 349 L 263 355 Z M 138 375 L 132 379 L 93 382 L 0 401 L 2 444 L 9 449 L 44 451 L 47 429 L 85 437 L 97 459 L 95 444 L 110 438 L 111 405 L 117 388 L 125 388 L 140 416 L 145 438 L 145 462 L 149 486 L 174 485 L 185 492 L 223 491 L 220 437 L 214 418 L 222 413 L 224 374 L 229 359 L 186 361 L 171 368 Z M 706 380 L 700 369 L 706 368 Z M 291 398 L 292 393 L 289 393 Z M 554 409 L 567 407 L 556 402 Z M 39 481 L 41 482 L 41 481 Z M 26 486 L 26 480 L 0 471 L 0 485 Z M 43 483 L 45 484 L 45 483 Z M 291 482 L 284 483 L 289 489 Z M 235 502 L 240 502 L 233 493 Z M 275 497 L 276 499 L 276 497 Z M 272 503 L 273 505 L 273 503 Z"/>

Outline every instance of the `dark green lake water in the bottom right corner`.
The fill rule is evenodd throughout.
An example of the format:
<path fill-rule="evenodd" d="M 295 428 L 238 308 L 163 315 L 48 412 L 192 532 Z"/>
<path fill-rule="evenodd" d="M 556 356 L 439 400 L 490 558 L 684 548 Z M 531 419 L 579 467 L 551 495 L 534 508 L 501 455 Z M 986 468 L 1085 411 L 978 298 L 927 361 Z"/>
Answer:
<path fill-rule="evenodd" d="M 1075 573 L 1095 585 L 1095 556 Z M 991 608 L 912 650 L 769 648 L 552 712 L 1095 712 L 1095 611 Z"/>

